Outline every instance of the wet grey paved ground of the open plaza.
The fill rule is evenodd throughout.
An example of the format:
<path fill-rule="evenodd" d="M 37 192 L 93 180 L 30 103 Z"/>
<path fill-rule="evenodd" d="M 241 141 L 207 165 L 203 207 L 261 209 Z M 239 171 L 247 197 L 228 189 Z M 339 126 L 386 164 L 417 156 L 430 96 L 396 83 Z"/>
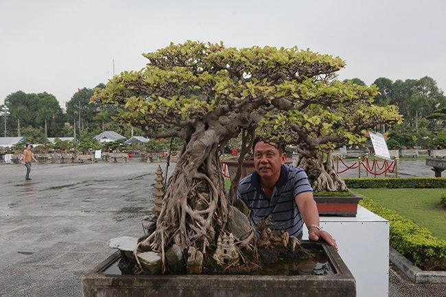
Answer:
<path fill-rule="evenodd" d="M 0 165 L 0 296 L 82 296 L 80 278 L 114 252 L 108 240 L 143 235 L 159 165 L 33 164 L 30 181 L 23 165 Z M 424 161 L 400 172 L 433 176 Z M 390 297 L 446 296 L 446 285 L 414 285 L 392 265 L 389 284 Z"/>

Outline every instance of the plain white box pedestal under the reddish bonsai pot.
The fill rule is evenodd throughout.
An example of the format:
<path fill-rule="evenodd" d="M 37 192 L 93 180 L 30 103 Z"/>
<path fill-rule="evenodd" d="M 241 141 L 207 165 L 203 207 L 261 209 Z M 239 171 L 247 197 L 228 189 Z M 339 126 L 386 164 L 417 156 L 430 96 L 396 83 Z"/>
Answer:
<path fill-rule="evenodd" d="M 358 205 L 356 217 L 320 217 L 356 280 L 357 297 L 388 296 L 389 222 Z M 303 239 L 308 239 L 304 228 Z"/>

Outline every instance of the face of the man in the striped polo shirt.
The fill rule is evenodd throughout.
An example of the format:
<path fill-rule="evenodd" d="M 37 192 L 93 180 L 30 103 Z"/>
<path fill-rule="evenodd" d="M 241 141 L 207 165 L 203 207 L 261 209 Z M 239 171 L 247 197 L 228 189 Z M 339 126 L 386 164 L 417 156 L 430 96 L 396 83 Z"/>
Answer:
<path fill-rule="evenodd" d="M 259 141 L 254 147 L 254 167 L 259 176 L 279 180 L 281 165 L 285 164 L 286 154 L 268 143 Z"/>

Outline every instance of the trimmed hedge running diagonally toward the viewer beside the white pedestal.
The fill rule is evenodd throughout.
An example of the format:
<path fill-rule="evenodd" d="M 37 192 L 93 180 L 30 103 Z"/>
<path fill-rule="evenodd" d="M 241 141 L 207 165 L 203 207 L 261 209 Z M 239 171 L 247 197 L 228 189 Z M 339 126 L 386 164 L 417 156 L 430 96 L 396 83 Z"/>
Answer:
<path fill-rule="evenodd" d="M 397 212 L 379 206 L 364 197 L 360 204 L 390 222 L 390 246 L 425 270 L 444 270 L 446 240 L 438 239 L 430 230 L 421 228 Z"/>

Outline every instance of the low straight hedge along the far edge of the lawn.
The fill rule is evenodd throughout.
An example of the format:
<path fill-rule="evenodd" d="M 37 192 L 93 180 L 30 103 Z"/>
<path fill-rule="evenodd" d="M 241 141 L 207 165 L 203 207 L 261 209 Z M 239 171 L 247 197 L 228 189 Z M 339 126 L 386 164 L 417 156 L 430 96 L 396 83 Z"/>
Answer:
<path fill-rule="evenodd" d="M 354 188 L 446 188 L 446 178 L 343 178 Z"/>

